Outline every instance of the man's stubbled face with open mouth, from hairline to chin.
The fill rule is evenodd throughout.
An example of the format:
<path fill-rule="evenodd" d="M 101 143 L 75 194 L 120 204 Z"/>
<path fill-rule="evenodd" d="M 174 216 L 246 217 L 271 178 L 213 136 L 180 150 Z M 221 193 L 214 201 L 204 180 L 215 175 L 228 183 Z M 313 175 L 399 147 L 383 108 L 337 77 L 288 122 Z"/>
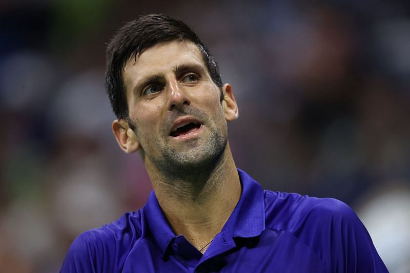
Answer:
<path fill-rule="evenodd" d="M 222 155 L 228 129 L 221 91 L 195 44 L 157 44 L 136 61 L 131 57 L 123 75 L 129 116 L 146 164 L 169 174 L 193 172 Z"/>

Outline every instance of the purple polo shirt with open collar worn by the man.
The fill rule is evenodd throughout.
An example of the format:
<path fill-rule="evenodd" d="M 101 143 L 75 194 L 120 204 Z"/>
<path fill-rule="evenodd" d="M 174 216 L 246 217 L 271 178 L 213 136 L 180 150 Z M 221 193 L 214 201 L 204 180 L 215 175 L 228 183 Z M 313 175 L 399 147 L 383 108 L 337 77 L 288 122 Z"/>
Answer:
<path fill-rule="evenodd" d="M 343 202 L 263 191 L 238 173 L 239 202 L 203 255 L 173 233 L 152 192 L 137 212 L 79 235 L 60 272 L 388 272 Z"/>

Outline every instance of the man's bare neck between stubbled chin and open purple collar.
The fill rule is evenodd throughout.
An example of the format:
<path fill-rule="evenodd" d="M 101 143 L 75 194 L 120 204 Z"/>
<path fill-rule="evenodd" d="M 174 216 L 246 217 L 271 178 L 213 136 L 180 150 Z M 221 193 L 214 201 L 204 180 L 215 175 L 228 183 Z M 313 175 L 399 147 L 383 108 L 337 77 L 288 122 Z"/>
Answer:
<path fill-rule="evenodd" d="M 212 170 L 203 170 L 195 176 L 170 179 L 148 166 L 147 170 L 174 233 L 183 235 L 198 250 L 220 232 L 241 194 L 229 144 Z"/>

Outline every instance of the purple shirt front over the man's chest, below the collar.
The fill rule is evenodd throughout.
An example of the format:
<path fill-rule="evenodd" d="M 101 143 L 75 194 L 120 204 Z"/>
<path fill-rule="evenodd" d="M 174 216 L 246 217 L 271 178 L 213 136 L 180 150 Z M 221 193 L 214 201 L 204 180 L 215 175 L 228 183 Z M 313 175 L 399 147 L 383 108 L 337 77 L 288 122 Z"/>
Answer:
<path fill-rule="evenodd" d="M 215 238 L 203 256 L 181 240 L 163 258 L 153 243 L 139 244 L 122 272 L 326 272 L 312 249 L 289 232 L 264 230 L 260 237 L 229 239 Z"/>

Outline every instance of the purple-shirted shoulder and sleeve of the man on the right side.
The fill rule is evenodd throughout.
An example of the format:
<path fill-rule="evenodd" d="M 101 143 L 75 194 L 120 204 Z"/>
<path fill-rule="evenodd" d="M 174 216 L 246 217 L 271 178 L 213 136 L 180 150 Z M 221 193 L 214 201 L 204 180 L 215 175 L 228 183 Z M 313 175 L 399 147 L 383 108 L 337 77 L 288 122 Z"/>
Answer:
<path fill-rule="evenodd" d="M 289 230 L 331 272 L 387 272 L 353 209 L 334 198 L 265 191 L 269 228 Z"/>

